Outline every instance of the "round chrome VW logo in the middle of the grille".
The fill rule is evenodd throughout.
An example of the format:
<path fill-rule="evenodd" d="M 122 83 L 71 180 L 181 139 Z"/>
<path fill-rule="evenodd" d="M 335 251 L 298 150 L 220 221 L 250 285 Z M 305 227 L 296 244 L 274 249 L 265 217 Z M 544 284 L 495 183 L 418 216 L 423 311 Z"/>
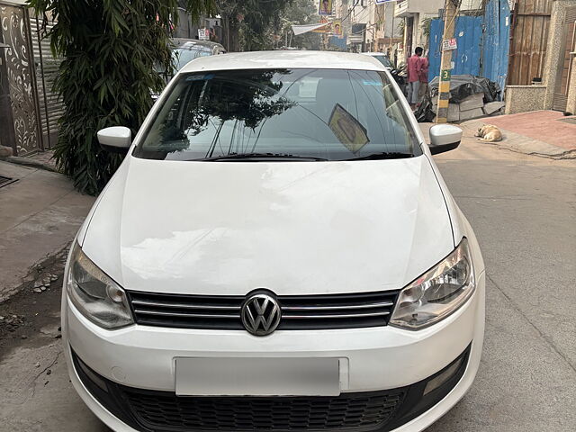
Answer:
<path fill-rule="evenodd" d="M 282 311 L 276 299 L 266 293 L 250 294 L 240 311 L 242 324 L 255 336 L 266 336 L 280 324 Z"/>

